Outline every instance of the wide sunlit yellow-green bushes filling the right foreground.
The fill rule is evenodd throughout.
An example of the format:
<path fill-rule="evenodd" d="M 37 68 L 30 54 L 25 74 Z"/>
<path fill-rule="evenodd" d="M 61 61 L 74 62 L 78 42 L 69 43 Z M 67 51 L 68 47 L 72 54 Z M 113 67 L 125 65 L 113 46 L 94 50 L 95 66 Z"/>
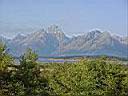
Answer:
<path fill-rule="evenodd" d="M 104 59 L 49 64 L 45 74 L 61 96 L 128 96 L 128 67 Z M 47 70 L 49 69 L 49 70 Z"/>

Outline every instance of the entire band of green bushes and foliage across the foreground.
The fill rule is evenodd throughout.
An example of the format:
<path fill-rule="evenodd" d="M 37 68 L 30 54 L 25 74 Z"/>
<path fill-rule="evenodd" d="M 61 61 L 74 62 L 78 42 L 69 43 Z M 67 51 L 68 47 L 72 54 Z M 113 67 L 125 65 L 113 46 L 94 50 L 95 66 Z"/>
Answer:
<path fill-rule="evenodd" d="M 106 57 L 42 63 L 31 49 L 17 64 L 0 43 L 0 96 L 128 96 L 128 66 Z"/>

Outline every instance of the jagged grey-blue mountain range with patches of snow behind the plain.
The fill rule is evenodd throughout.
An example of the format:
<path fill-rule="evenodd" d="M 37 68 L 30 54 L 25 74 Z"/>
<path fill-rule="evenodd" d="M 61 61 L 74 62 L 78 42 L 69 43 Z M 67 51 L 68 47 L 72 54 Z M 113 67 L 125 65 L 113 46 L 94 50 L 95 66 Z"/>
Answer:
<path fill-rule="evenodd" d="M 112 36 L 108 32 L 93 30 L 84 35 L 69 38 L 56 25 L 23 36 L 18 34 L 12 40 L 0 37 L 7 43 L 10 53 L 22 55 L 32 48 L 40 56 L 109 55 L 127 57 L 128 37 Z"/>

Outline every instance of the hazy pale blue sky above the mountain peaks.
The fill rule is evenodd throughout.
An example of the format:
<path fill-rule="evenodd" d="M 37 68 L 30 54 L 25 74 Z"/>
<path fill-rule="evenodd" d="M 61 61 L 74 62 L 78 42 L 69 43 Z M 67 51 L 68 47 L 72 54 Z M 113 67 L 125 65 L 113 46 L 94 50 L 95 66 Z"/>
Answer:
<path fill-rule="evenodd" d="M 127 0 L 0 0 L 0 35 L 12 37 L 51 24 L 68 35 L 99 28 L 127 33 Z"/>

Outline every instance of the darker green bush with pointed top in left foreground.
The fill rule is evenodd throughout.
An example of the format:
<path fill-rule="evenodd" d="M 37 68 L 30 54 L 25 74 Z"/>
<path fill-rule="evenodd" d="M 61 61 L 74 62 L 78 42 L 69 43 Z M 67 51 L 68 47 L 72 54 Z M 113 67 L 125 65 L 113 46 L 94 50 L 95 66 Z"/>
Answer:
<path fill-rule="evenodd" d="M 36 60 L 37 55 L 29 49 L 22 56 L 20 65 L 7 66 L 10 70 L 2 70 L 0 96 L 49 96 L 48 82 Z"/>

